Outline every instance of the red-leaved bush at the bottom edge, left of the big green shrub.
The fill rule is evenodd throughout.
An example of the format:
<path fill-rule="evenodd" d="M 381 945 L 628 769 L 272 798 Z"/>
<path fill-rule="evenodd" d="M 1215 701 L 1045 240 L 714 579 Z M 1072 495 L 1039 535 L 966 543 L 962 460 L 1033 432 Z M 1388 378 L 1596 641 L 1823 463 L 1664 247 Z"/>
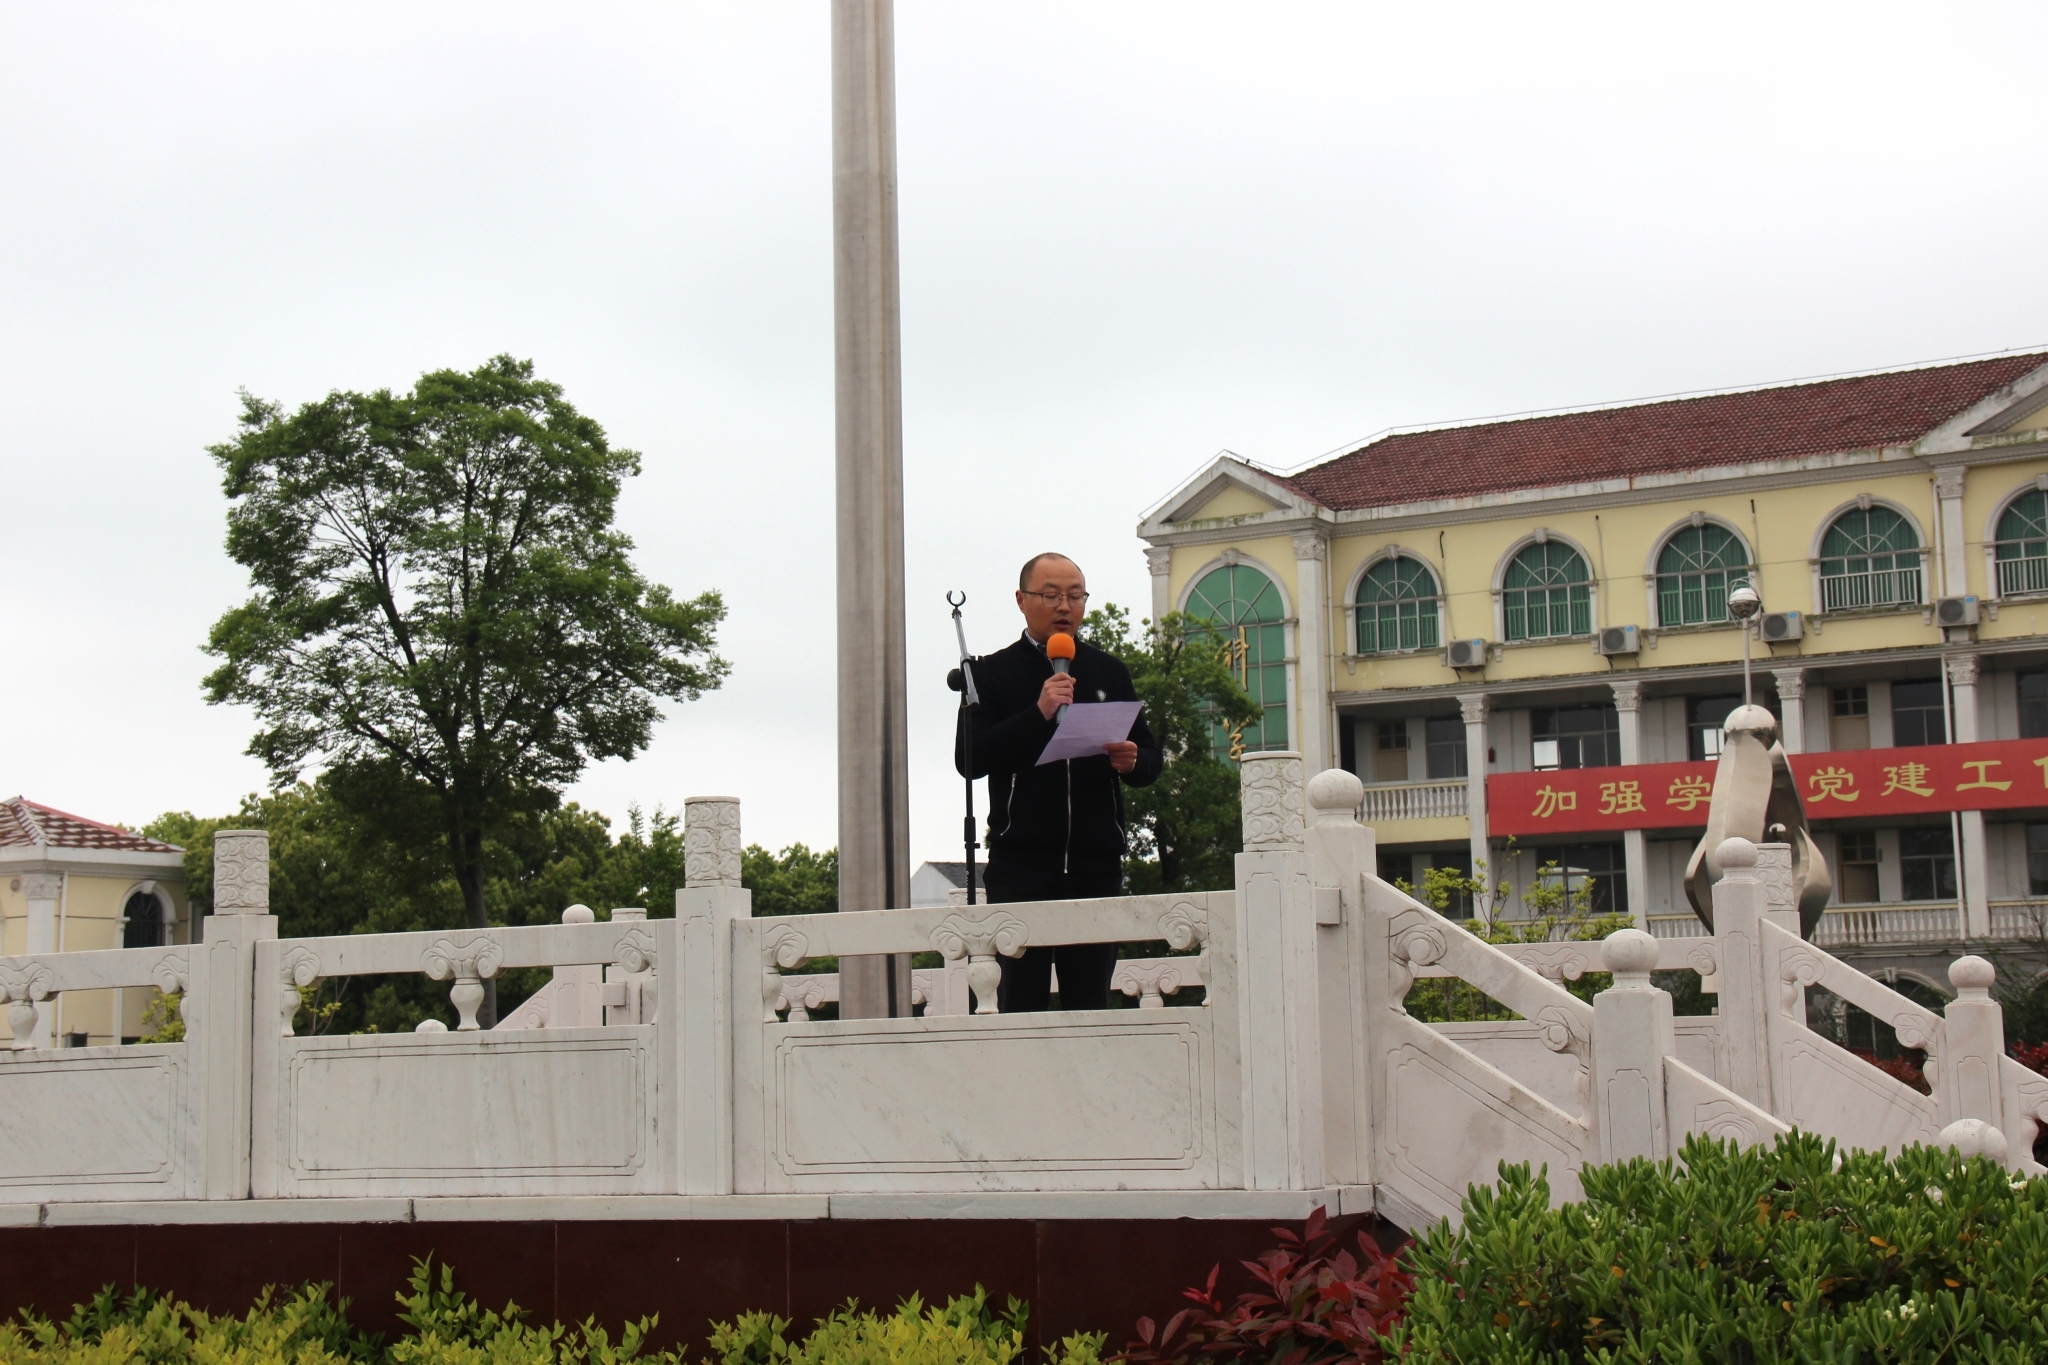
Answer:
<path fill-rule="evenodd" d="M 1260 1289 L 1239 1293 L 1229 1310 L 1208 1283 L 1182 1293 L 1194 1304 L 1161 1330 L 1139 1318 L 1139 1338 L 1112 1361 L 1192 1365 L 1194 1361 L 1268 1361 L 1270 1365 L 1380 1363 L 1380 1334 L 1401 1320 L 1415 1279 L 1378 1244 L 1358 1234 L 1358 1252 L 1331 1254 L 1337 1238 L 1323 1209 L 1309 1214 L 1300 1236 L 1274 1228 L 1280 1244 L 1245 1269 Z"/>

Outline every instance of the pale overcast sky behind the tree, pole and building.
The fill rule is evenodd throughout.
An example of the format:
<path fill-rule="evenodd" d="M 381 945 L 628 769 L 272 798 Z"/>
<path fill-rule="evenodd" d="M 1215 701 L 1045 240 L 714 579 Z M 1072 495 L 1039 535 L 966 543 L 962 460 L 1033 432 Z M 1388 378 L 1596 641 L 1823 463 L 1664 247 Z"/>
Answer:
<path fill-rule="evenodd" d="M 1221 448 L 2048 342 L 2042 6 L 897 8 L 913 855 L 977 649 Z M 573 798 L 836 841 L 827 10 L 0 0 L 0 794 L 264 784 L 205 446 L 496 352 L 645 456 L 725 690 Z"/>

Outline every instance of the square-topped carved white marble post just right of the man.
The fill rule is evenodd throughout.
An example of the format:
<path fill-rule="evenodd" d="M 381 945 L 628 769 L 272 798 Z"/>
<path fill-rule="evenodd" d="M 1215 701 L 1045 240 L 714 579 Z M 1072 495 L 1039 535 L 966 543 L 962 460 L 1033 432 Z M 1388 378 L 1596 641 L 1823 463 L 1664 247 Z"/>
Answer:
<path fill-rule="evenodd" d="M 1237 855 L 1245 1189 L 1325 1179 L 1317 892 L 1298 753 L 1247 753 Z"/>

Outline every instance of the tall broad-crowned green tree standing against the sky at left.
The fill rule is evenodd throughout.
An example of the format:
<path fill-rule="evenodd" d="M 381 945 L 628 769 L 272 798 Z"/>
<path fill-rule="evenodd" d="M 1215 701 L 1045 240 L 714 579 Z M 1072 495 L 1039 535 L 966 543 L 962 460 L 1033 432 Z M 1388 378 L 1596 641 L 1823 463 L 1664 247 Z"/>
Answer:
<path fill-rule="evenodd" d="M 639 753 L 662 700 L 725 677 L 719 596 L 647 583 L 614 528 L 639 456 L 530 362 L 289 415 L 244 395 L 211 452 L 254 593 L 213 626 L 207 700 L 256 712 L 276 782 L 324 763 L 383 837 L 432 835 L 471 927 L 487 841 L 518 843 L 588 761 Z"/>

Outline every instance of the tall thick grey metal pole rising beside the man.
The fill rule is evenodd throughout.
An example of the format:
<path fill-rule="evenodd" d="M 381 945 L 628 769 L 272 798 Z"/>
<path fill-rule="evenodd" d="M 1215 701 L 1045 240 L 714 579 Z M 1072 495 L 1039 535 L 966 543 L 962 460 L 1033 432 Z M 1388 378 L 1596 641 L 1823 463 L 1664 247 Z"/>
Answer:
<path fill-rule="evenodd" d="M 895 8 L 831 0 L 840 909 L 909 905 Z M 840 1015 L 909 1013 L 909 954 L 840 962 Z"/>

